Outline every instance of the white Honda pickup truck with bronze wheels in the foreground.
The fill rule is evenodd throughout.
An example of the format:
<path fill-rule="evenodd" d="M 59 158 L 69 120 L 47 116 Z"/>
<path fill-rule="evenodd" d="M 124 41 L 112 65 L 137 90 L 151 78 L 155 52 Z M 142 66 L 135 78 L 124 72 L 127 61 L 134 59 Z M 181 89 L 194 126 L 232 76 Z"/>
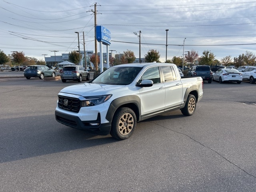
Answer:
<path fill-rule="evenodd" d="M 180 109 L 190 116 L 203 96 L 201 77 L 181 78 L 175 64 L 122 64 L 58 94 L 58 122 L 93 134 L 129 138 L 136 123 Z"/>

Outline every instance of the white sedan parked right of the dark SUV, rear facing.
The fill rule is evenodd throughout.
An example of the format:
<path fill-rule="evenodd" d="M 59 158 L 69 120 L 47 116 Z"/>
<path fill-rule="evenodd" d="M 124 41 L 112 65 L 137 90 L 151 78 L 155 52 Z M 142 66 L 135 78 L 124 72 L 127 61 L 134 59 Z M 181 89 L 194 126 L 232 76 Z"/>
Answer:
<path fill-rule="evenodd" d="M 220 83 L 237 82 L 240 84 L 243 80 L 242 74 L 236 69 L 224 68 L 219 69 L 212 74 L 212 80 Z"/>

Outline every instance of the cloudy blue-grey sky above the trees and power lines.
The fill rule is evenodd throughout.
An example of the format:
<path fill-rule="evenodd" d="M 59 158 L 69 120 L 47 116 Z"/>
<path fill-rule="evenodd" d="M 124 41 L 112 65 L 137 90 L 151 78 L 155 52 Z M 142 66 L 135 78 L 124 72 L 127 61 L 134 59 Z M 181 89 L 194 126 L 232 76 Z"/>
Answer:
<path fill-rule="evenodd" d="M 44 60 L 78 50 L 75 32 L 80 50 L 94 50 L 95 4 L 96 24 L 111 32 L 115 54 L 144 58 L 156 50 L 161 62 L 183 49 L 209 50 L 218 60 L 256 55 L 256 1 L 245 0 L 0 0 L 0 50 Z"/>

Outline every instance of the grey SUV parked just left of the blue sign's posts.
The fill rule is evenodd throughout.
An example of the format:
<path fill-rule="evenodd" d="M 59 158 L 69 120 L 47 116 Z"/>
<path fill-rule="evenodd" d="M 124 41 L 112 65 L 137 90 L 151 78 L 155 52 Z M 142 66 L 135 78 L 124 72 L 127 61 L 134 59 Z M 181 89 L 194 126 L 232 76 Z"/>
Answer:
<path fill-rule="evenodd" d="M 64 68 L 60 72 L 60 78 L 62 82 L 66 82 L 66 80 L 75 80 L 78 82 L 82 82 L 83 79 L 90 80 L 90 73 L 85 70 L 83 66 L 70 65 L 64 66 Z"/>

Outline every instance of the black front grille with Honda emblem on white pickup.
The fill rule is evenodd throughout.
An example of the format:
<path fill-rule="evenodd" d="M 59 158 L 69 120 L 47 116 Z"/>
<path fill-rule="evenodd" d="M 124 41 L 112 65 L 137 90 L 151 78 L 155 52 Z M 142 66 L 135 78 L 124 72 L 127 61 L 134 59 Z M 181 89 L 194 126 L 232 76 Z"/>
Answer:
<path fill-rule="evenodd" d="M 81 108 L 81 101 L 78 98 L 58 96 L 58 106 L 64 110 L 78 113 Z"/>

